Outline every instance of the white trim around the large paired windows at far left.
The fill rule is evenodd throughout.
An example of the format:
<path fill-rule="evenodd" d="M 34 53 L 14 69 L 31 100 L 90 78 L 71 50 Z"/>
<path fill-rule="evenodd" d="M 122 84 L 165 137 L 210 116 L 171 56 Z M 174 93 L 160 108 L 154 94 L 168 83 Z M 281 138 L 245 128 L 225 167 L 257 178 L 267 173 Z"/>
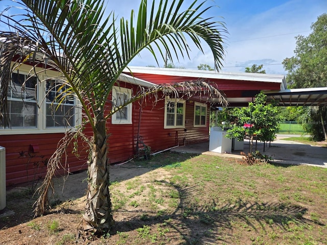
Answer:
<path fill-rule="evenodd" d="M 36 72 L 40 71 L 40 68 L 35 67 Z M 19 67 L 19 73 L 29 74 L 31 66 L 22 65 Z M 37 127 L 36 128 L 0 128 L 0 135 L 15 135 L 15 134 L 50 134 L 50 133 L 65 133 L 68 129 L 74 129 L 74 127 L 53 127 L 46 128 L 46 103 L 45 103 L 45 80 L 55 77 L 59 77 L 58 72 L 48 70 L 46 75 L 44 72 L 40 72 L 38 75 L 39 81 L 37 84 L 37 103 L 39 108 L 37 109 Z M 42 82 L 40 82 L 42 81 Z M 43 100 L 44 99 L 44 100 Z M 82 123 L 82 107 L 79 100 L 76 99 L 75 104 L 75 126 Z"/>

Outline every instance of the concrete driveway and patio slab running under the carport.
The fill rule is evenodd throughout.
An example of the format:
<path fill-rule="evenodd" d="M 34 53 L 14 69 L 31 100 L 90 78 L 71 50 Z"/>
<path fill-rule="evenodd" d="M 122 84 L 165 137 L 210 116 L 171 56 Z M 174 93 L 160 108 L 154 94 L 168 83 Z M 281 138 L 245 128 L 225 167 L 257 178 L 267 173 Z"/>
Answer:
<path fill-rule="evenodd" d="M 268 142 L 265 146 L 265 152 L 263 151 L 264 143 L 258 142 L 257 150 L 260 151 L 262 154 L 271 156 L 273 158 L 273 162 L 276 163 L 293 165 L 306 164 L 327 168 L 326 147 L 312 146 L 308 144 L 298 143 L 295 141 L 282 140 L 282 138 L 285 138 L 285 136 L 277 136 L 277 139 L 271 142 L 270 146 Z M 253 143 L 255 144 L 255 142 Z M 226 154 L 209 152 L 209 142 L 180 146 L 171 151 L 242 158 L 241 152 L 248 153 L 248 149 L 249 140 L 245 140 L 243 151 L 232 151 Z M 254 149 L 255 146 L 253 145 L 253 151 Z"/>

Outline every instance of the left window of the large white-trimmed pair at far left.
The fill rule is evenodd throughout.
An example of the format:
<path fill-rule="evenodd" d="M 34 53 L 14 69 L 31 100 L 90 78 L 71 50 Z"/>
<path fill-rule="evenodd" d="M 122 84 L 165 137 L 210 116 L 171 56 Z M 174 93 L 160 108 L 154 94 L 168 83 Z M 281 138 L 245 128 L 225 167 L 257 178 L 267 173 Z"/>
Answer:
<path fill-rule="evenodd" d="M 9 119 L 12 128 L 37 128 L 36 94 L 36 77 L 12 74 L 8 90 Z"/>

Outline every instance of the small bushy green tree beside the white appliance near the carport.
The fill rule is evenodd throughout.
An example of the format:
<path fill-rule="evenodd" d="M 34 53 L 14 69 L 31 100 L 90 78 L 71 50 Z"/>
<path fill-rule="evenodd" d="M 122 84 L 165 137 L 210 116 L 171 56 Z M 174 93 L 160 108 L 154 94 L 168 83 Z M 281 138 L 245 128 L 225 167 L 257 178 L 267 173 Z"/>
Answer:
<path fill-rule="evenodd" d="M 249 103 L 248 107 L 237 108 L 235 115 L 236 124 L 227 130 L 227 137 L 243 140 L 244 136 L 248 135 L 250 153 L 254 136 L 261 141 L 273 141 L 278 123 L 282 120 L 281 116 L 278 116 L 277 108 L 266 103 L 266 95 L 262 92 L 255 96 L 254 102 Z M 244 127 L 244 124 L 250 124 L 251 127 Z"/>

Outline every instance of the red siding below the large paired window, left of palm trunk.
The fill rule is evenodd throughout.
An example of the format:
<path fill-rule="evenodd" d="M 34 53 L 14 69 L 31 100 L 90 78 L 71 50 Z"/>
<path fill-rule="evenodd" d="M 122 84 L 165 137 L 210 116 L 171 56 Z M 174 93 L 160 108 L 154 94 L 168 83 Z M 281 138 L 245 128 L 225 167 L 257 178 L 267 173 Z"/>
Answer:
<path fill-rule="evenodd" d="M 1 135 L 0 145 L 6 148 L 6 184 L 13 185 L 43 178 L 46 173 L 46 161 L 57 148 L 57 143 L 64 134 L 27 134 Z M 34 145 L 37 152 L 30 151 Z M 28 153 L 32 157 L 28 157 Z M 86 168 L 87 154 L 77 159 L 72 148 L 67 149 L 69 171 Z"/>

